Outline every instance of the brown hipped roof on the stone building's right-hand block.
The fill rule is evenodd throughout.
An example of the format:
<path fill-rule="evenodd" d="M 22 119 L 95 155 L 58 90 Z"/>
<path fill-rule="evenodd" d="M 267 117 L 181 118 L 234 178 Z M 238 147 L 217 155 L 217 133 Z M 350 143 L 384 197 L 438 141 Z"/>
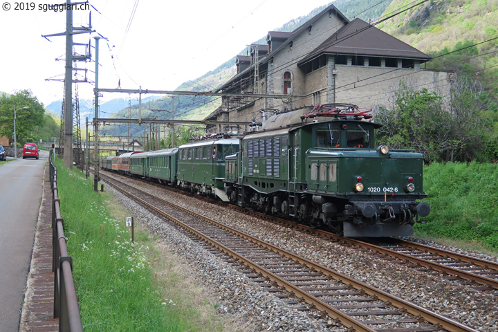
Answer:
<path fill-rule="evenodd" d="M 420 59 L 422 61 L 431 59 L 429 55 L 361 19 L 355 19 L 340 28 L 337 33 L 331 35 L 325 42 L 311 51 L 308 56 L 299 61 L 298 65 L 305 64 L 318 55 L 325 53 L 401 57 Z"/>

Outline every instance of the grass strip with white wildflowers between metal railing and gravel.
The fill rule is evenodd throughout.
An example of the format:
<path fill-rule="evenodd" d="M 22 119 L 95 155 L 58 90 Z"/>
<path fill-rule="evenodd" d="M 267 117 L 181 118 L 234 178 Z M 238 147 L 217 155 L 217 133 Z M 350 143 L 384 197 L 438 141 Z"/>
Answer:
<path fill-rule="evenodd" d="M 84 331 L 223 331 L 214 305 L 192 302 L 195 291 L 156 239 L 136 228 L 132 245 L 111 194 L 93 192 L 93 179 L 59 158 L 55 165 Z"/>

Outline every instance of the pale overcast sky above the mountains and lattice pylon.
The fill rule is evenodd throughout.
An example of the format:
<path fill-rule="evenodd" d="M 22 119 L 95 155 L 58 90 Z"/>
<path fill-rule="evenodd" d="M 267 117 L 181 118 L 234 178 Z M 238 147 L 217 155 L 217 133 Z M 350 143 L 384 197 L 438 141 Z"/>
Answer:
<path fill-rule="evenodd" d="M 24 2 L 24 10 L 21 3 L 0 2 L 0 91 L 31 89 L 45 105 L 62 99 L 63 82 L 46 79 L 64 79 L 66 38 L 49 37 L 49 42 L 42 35 L 63 33 L 66 12 L 47 10 L 49 2 Z M 330 2 L 92 0 L 96 10 L 73 10 L 73 26 L 88 26 L 91 12 L 93 30 L 109 39 L 100 39 L 101 88 L 116 89 L 120 80 L 122 89 L 174 90 L 223 64 L 268 31 Z M 73 42 L 88 44 L 91 39 L 94 46 L 95 36 L 75 36 Z M 75 50 L 80 53 L 83 48 Z M 94 62 L 77 67 L 88 68 L 87 77 L 95 80 Z M 80 98 L 93 98 L 92 84 L 78 84 L 78 89 Z M 128 95 L 106 93 L 103 99 L 119 97 Z"/>

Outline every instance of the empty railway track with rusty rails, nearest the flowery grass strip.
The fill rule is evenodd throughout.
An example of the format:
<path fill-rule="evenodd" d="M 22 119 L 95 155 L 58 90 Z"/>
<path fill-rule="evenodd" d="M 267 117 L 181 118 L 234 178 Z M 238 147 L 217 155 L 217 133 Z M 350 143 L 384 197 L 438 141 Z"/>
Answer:
<path fill-rule="evenodd" d="M 193 237 L 224 252 L 244 268 L 254 270 L 246 271 L 248 277 L 291 305 L 302 306 L 301 302 L 306 302 L 322 315 L 355 331 L 474 331 L 304 257 L 101 175 L 104 181 L 178 223 Z"/>

